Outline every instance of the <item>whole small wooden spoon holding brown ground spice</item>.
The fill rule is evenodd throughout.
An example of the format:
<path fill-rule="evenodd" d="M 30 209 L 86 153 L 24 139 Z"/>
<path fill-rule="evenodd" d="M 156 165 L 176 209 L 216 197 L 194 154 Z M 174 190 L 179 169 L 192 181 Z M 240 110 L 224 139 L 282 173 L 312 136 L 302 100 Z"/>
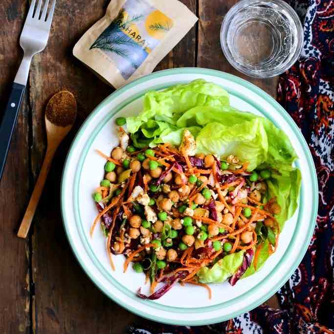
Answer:
<path fill-rule="evenodd" d="M 40 175 L 25 211 L 18 237 L 25 238 L 29 232 L 31 221 L 34 218 L 38 202 L 41 198 L 47 174 L 49 173 L 54 154 L 72 129 L 77 115 L 77 103 L 74 95 L 62 90 L 53 95 L 45 110 L 45 127 L 47 134 L 47 149 Z"/>

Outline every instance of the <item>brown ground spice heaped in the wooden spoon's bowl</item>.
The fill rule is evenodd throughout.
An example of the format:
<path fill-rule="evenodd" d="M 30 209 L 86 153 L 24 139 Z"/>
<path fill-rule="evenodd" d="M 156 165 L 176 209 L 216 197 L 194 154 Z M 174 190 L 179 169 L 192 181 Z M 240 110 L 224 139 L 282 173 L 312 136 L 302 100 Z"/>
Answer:
<path fill-rule="evenodd" d="M 47 103 L 45 116 L 54 125 L 66 127 L 74 123 L 77 115 L 77 102 L 68 90 L 54 94 Z"/>

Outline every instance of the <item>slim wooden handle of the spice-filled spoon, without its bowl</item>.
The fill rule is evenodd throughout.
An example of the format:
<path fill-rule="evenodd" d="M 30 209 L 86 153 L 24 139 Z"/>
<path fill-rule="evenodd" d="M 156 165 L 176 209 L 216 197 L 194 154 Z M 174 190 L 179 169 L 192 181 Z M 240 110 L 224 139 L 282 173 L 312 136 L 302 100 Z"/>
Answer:
<path fill-rule="evenodd" d="M 28 207 L 25 210 L 25 214 L 22 219 L 22 223 L 20 225 L 20 229 L 18 232 L 18 237 L 20 238 L 25 238 L 29 232 L 29 228 L 30 228 L 32 219 L 34 218 L 37 205 L 40 201 L 40 198 L 43 192 L 43 188 L 45 186 L 47 174 L 49 173 L 51 163 L 52 163 L 52 158 L 54 154 L 55 154 L 55 149 L 46 151 L 46 155 L 44 158 L 44 162 L 43 162 L 43 166 L 42 166 L 40 175 L 38 176 L 38 179 L 35 185 L 35 189 L 31 195 Z"/>

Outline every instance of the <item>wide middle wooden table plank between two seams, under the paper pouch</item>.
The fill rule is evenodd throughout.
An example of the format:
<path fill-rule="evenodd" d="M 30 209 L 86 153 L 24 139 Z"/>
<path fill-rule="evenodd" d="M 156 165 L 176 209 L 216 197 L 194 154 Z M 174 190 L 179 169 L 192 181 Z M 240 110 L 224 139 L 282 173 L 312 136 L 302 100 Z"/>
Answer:
<path fill-rule="evenodd" d="M 89 280 L 68 245 L 60 215 L 60 179 L 69 144 L 85 118 L 112 89 L 77 61 L 71 50 L 82 34 L 104 13 L 109 1 L 57 1 L 45 51 L 34 59 L 30 74 L 34 178 L 45 154 L 45 102 L 66 88 L 78 100 L 76 125 L 59 147 L 33 221 L 35 333 L 122 333 L 137 317 L 113 303 Z M 184 0 L 196 11 L 195 0 Z M 159 65 L 194 66 L 195 28 Z M 186 57 L 184 56 L 186 54 Z"/>

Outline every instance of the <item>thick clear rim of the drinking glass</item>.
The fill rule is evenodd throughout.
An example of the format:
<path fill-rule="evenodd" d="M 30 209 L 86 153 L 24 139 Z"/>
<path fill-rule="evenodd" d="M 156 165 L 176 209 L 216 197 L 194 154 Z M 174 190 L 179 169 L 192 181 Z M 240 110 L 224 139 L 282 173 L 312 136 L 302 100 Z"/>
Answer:
<path fill-rule="evenodd" d="M 235 17 L 235 15 L 245 7 L 245 5 L 251 4 L 252 6 L 255 6 L 257 4 L 270 4 L 271 6 L 278 6 L 279 8 L 282 8 L 285 10 L 292 21 L 296 24 L 297 28 L 297 41 L 296 41 L 296 47 L 294 53 L 289 57 L 286 61 L 284 61 L 280 66 L 275 67 L 271 70 L 267 71 L 256 71 L 252 68 L 246 67 L 238 62 L 235 61 L 234 57 L 232 56 L 232 53 L 230 51 L 230 48 L 227 45 L 227 32 L 230 26 L 230 22 Z M 232 65 L 232 67 L 236 68 L 238 71 L 244 73 L 245 75 L 248 75 L 250 77 L 254 78 L 270 78 L 274 77 L 276 75 L 284 73 L 286 70 L 288 70 L 293 64 L 297 61 L 302 48 L 303 48 L 303 42 L 304 42 L 304 31 L 302 22 L 299 19 L 299 16 L 294 11 L 294 9 L 285 1 L 283 0 L 275 0 L 275 2 L 272 2 L 270 0 L 241 0 L 237 2 L 234 6 L 230 8 L 230 10 L 225 15 L 222 26 L 221 26 L 221 47 L 223 49 L 224 56 L 226 57 L 227 61 Z"/>

